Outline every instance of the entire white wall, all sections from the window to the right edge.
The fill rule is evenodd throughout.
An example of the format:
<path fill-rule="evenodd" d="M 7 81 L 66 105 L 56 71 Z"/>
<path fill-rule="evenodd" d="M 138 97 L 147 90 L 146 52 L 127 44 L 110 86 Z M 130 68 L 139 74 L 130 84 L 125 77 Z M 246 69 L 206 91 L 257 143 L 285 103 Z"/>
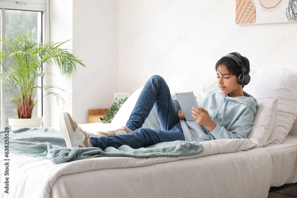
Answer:
<path fill-rule="evenodd" d="M 78 124 L 87 123 L 88 109 L 110 107 L 115 92 L 132 94 L 151 75 L 177 86 L 196 75 L 215 76 L 215 63 L 230 52 L 247 56 L 254 69 L 297 68 L 296 32 L 297 23 L 235 25 L 234 0 L 51 1 L 51 41 L 72 37 L 74 55 L 86 64 L 65 89 L 72 102 L 66 111 Z M 278 48 L 271 51 L 274 45 Z M 265 54 L 268 58 L 255 65 Z"/>

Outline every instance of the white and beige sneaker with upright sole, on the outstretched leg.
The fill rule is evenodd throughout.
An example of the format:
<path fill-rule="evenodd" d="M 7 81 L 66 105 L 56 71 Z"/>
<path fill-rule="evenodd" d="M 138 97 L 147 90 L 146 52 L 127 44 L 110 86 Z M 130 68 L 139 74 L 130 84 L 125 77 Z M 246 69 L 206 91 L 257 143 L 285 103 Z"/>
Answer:
<path fill-rule="evenodd" d="M 60 115 L 60 130 L 66 142 L 67 148 L 89 147 L 89 135 L 80 126 L 78 126 L 75 121 L 72 120 L 71 116 L 67 112 L 62 112 Z"/>

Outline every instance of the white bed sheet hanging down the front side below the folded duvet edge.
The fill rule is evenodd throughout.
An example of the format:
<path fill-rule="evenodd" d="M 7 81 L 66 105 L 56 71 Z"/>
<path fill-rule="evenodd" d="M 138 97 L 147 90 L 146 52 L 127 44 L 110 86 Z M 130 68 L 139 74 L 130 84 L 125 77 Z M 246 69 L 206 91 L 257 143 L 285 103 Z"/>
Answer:
<path fill-rule="evenodd" d="M 257 170 L 254 168 L 254 162 L 263 155 L 267 155 L 263 148 L 253 148 L 142 167 L 62 175 L 54 183 L 50 197 L 61 194 L 94 197 L 97 192 L 100 197 L 119 198 L 266 198 L 271 179 L 270 164 L 263 164 Z M 90 180 L 93 177 L 94 182 Z"/>

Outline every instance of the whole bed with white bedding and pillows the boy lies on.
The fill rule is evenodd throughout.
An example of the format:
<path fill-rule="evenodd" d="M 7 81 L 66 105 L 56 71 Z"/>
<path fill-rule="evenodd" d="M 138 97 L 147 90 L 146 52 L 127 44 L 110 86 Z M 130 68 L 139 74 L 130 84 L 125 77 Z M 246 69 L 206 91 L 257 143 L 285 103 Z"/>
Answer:
<path fill-rule="evenodd" d="M 1 188 L 0 195 L 266 198 L 271 187 L 297 182 L 296 76 L 297 70 L 287 69 L 251 72 L 251 83 L 244 91 L 258 100 L 259 107 L 248 139 L 200 142 L 203 152 L 192 156 L 97 157 L 62 164 L 10 153 L 10 194 Z M 174 83 L 169 82 L 170 91 L 181 91 Z M 182 91 L 188 90 L 194 90 L 198 101 L 209 91 L 219 91 L 216 77 L 211 75 Z M 94 133 L 124 125 L 140 91 L 129 97 L 112 123 L 80 126 Z M 156 119 L 153 108 L 144 126 L 157 129 Z M 3 149 L 0 159 L 4 164 Z M 4 171 L 2 165 L 1 184 L 5 181 Z"/>

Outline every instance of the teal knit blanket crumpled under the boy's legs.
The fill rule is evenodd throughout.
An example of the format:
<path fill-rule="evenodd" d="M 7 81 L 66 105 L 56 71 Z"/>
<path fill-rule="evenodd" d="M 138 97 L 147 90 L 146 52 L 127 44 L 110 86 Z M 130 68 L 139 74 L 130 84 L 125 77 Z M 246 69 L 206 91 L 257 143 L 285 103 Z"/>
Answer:
<path fill-rule="evenodd" d="M 4 149 L 4 132 L 0 131 L 0 148 Z M 89 133 L 92 135 L 92 133 Z M 119 148 L 67 148 L 59 130 L 48 127 L 23 127 L 9 130 L 9 151 L 25 156 L 49 159 L 53 164 L 101 156 L 128 157 L 177 157 L 190 156 L 203 152 L 199 142 L 173 141 L 162 142 L 145 148 L 131 148 L 122 145 Z"/>

